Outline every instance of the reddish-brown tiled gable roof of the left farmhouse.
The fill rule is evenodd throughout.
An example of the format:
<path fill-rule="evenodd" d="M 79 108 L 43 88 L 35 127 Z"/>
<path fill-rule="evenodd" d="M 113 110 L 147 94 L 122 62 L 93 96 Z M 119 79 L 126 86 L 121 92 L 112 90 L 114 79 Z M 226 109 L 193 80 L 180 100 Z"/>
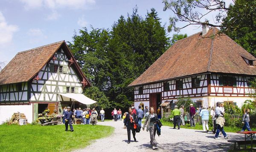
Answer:
<path fill-rule="evenodd" d="M 66 42 L 60 41 L 17 53 L 0 72 L 0 85 L 28 82 L 35 77 L 35 75 L 52 58 L 53 54 L 62 46 L 66 46 L 66 50 L 68 50 Z M 68 53 L 70 53 L 70 51 Z M 73 56 L 71 53 L 70 55 Z M 76 62 L 76 60 L 74 61 Z M 75 64 L 77 70 L 79 70 L 79 73 L 81 74 L 82 72 L 79 65 L 77 65 L 77 62 Z M 84 75 L 81 77 L 85 78 Z M 87 80 L 87 78 L 85 79 Z M 87 82 L 89 81 L 87 80 Z M 90 82 L 88 84 L 90 85 Z"/>

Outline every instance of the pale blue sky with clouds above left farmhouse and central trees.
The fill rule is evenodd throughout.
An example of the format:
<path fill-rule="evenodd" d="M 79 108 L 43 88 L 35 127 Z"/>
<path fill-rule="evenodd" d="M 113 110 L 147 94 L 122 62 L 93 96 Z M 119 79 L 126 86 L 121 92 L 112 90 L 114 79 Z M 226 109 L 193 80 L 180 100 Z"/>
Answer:
<path fill-rule="evenodd" d="M 111 29 L 121 15 L 127 17 L 135 6 L 142 17 L 155 8 L 162 24 L 169 25 L 172 12 L 163 11 L 162 0 L 1 0 L 0 62 L 7 65 L 20 51 L 72 41 L 74 31 L 83 27 Z M 199 31 L 201 27 L 189 26 L 180 33 L 192 35 Z"/>

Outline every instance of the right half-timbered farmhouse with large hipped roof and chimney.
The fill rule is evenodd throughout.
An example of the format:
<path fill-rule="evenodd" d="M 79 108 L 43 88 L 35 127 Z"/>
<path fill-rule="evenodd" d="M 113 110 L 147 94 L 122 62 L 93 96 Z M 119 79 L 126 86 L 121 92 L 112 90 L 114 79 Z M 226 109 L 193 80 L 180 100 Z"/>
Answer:
<path fill-rule="evenodd" d="M 254 91 L 256 58 L 217 28 L 172 45 L 129 87 L 134 87 L 135 107 L 174 105 L 179 96 L 190 96 L 197 104 L 213 106 L 217 101 L 239 107 Z"/>

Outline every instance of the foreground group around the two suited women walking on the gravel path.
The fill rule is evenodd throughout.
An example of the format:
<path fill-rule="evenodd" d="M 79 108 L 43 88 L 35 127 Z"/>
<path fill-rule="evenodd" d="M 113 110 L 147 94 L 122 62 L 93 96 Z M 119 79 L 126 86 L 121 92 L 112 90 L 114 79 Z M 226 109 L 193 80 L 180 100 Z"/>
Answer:
<path fill-rule="evenodd" d="M 132 132 L 134 141 L 136 142 L 135 135 L 136 135 L 136 132 L 140 132 L 138 128 L 141 127 L 141 120 L 143 119 L 144 116 L 145 116 L 145 122 L 142 127 L 143 131 L 145 129 L 145 126 L 147 125 L 146 131 L 147 132 L 149 131 L 149 134 L 150 134 L 150 144 L 152 148 L 155 149 L 155 146 L 157 146 L 158 144 L 157 141 L 155 140 L 155 132 L 156 132 L 157 125 L 159 125 L 160 127 L 161 124 L 157 114 L 154 113 L 154 107 L 150 107 L 148 109 L 148 107 L 146 106 L 144 109 L 144 112 L 141 109 L 141 106 L 139 106 L 138 109 L 136 109 L 134 105 L 128 108 L 128 113 L 124 114 L 123 116 L 124 125 L 125 125 L 124 128 L 127 129 L 128 144 L 131 143 L 131 132 Z"/>

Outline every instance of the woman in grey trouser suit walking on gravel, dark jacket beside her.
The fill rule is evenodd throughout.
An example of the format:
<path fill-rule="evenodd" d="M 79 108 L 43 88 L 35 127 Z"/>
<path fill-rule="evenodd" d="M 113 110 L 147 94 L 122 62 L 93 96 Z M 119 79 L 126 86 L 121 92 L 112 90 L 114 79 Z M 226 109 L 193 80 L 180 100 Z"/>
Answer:
<path fill-rule="evenodd" d="M 157 118 L 157 114 L 154 113 L 154 107 L 150 107 L 149 108 L 149 115 L 146 117 L 146 120 L 144 122 L 144 125 L 142 127 L 143 131 L 145 128 L 145 125 L 147 125 L 147 132 L 149 130 L 150 133 L 150 145 L 152 146 L 153 149 L 155 149 L 155 146 L 157 146 L 157 141 L 155 139 L 155 135 L 154 135 L 154 121 L 156 121 Z"/>

